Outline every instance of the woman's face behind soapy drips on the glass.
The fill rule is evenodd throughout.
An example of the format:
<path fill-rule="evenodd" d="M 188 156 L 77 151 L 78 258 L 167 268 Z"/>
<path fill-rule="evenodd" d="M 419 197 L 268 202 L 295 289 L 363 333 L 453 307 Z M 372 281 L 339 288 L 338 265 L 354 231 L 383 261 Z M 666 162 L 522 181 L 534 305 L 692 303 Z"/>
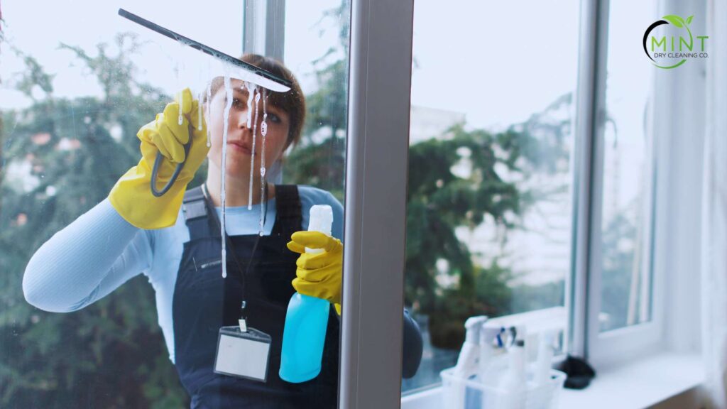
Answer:
<path fill-rule="evenodd" d="M 227 139 L 227 174 L 228 176 L 241 177 L 250 173 L 250 162 L 252 160 L 252 128 L 255 117 L 255 101 L 252 100 L 252 118 L 250 127 L 247 127 L 247 97 L 248 91 L 246 87 L 242 87 L 243 82 L 239 79 L 232 79 L 233 102 L 230 108 L 230 118 L 228 119 L 228 139 Z M 209 148 L 207 157 L 214 162 L 218 168 L 222 167 L 222 131 L 224 130 L 224 113 L 225 113 L 225 88 L 212 96 L 209 102 L 209 118 L 207 118 L 207 126 L 209 127 L 209 138 L 212 146 Z M 260 165 L 262 159 L 262 95 L 260 102 L 257 104 L 257 127 L 255 127 L 255 149 L 254 149 L 254 175 L 259 177 Z M 270 169 L 273 162 L 280 159 L 286 148 L 285 143 L 288 138 L 288 130 L 290 126 L 289 116 L 280 108 L 267 104 L 268 112 L 268 133 L 265 135 L 265 167 Z"/>

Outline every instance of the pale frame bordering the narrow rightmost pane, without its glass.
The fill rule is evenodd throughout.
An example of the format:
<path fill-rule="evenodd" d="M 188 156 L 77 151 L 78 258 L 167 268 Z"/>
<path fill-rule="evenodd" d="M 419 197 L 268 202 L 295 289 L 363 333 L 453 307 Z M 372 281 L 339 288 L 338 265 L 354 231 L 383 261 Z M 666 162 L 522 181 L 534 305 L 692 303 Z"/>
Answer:
<path fill-rule="evenodd" d="M 593 69 L 593 98 L 583 96 L 585 100 L 592 101 L 589 111 L 593 112 L 593 123 L 590 132 L 577 135 L 577 140 L 588 140 L 587 145 L 590 146 L 590 152 L 580 152 L 583 156 L 590 159 L 590 164 L 586 167 L 577 169 L 577 173 L 587 175 L 590 180 L 588 203 L 577 207 L 581 213 L 577 217 L 579 221 L 588 220 L 587 230 L 582 231 L 582 235 L 577 236 L 574 240 L 574 251 L 582 254 L 582 263 L 577 265 L 575 274 L 577 277 L 585 277 L 587 292 L 585 300 L 585 322 L 573 322 L 572 328 L 574 335 L 580 335 L 582 339 L 583 349 L 571 349 L 571 354 L 578 354 L 585 357 L 593 366 L 605 368 L 628 362 L 637 357 L 648 354 L 648 352 L 664 349 L 664 265 L 658 263 L 657 260 L 663 260 L 666 256 L 665 237 L 667 235 L 667 211 L 665 205 L 656 206 L 657 197 L 664 197 L 668 194 L 668 186 L 664 180 L 667 180 L 667 174 L 660 172 L 664 170 L 663 163 L 667 157 L 662 154 L 664 148 L 664 138 L 654 138 L 654 135 L 671 135 L 666 129 L 659 129 L 659 124 L 655 122 L 654 112 L 665 112 L 663 103 L 660 102 L 659 90 L 663 90 L 663 77 L 657 78 L 656 75 L 651 80 L 650 105 L 647 111 L 647 144 L 645 166 L 649 169 L 646 177 L 647 183 L 643 191 L 644 204 L 643 207 L 647 211 L 644 213 L 644 220 L 638 221 L 645 226 L 645 237 L 643 242 L 646 243 L 641 250 L 643 254 L 641 271 L 642 274 L 650 277 L 650 294 L 648 300 L 650 303 L 651 317 L 648 322 L 643 322 L 629 327 L 617 328 L 601 332 L 598 315 L 601 312 L 601 276 L 602 276 L 602 258 L 601 258 L 601 215 L 603 210 L 603 159 L 604 159 L 604 127 L 606 119 L 606 71 L 608 67 L 608 29 L 610 15 L 610 0 L 591 0 L 582 4 L 586 9 L 597 10 L 594 14 L 590 14 L 593 24 L 588 20 L 584 20 L 583 25 L 593 27 L 593 45 L 595 52 L 589 55 L 592 60 L 590 63 Z M 664 6 L 664 1 L 657 2 L 657 8 Z M 582 33 L 583 35 L 584 33 Z M 580 91 L 579 91 L 580 92 Z M 666 132 L 665 132 L 666 131 Z M 661 143 L 659 143 L 661 141 Z M 579 191 L 585 191 L 586 188 L 579 186 Z M 581 199 L 579 197 L 579 199 Z M 658 201 L 665 204 L 664 200 Z M 587 213 L 587 214 L 583 214 Z M 586 226 L 584 226 L 586 227 Z M 579 230 L 579 233 L 581 231 Z M 583 242 L 580 237 L 587 237 L 587 245 L 579 249 L 579 242 Z M 657 269 L 658 267 L 658 269 Z M 643 302 L 643 300 L 642 300 Z M 579 304 L 575 304 L 579 305 Z M 582 304 L 581 304 L 582 305 Z"/>

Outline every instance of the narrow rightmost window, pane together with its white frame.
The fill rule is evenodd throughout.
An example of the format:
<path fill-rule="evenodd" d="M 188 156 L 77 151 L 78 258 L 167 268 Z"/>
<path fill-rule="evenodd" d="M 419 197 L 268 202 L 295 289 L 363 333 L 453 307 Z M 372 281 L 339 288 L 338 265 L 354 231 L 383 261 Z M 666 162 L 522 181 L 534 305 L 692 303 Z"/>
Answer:
<path fill-rule="evenodd" d="M 663 181 L 656 183 L 665 175 L 655 171 L 663 167 L 657 166 L 656 151 L 663 149 L 659 139 L 664 138 L 654 138 L 662 119 L 655 115 L 665 111 L 655 106 L 671 95 L 654 85 L 655 68 L 635 63 L 643 55 L 633 44 L 634 36 L 643 37 L 643 27 L 653 23 L 655 5 L 625 9 L 621 1 L 599 4 L 593 32 L 599 49 L 595 98 L 584 98 L 593 98 L 590 109 L 598 115 L 587 148 L 592 157 L 583 161 L 588 168 L 582 168 L 592 181 L 591 196 L 579 210 L 590 217 L 590 231 L 581 236 L 590 237 L 590 248 L 582 253 L 588 255 L 587 265 L 575 271 L 576 277 L 587 277 L 590 292 L 588 317 L 579 321 L 587 329 L 574 333 L 577 351 L 593 365 L 615 365 L 662 342 L 662 314 L 654 306 L 666 271 L 652 265 L 654 254 L 665 250 L 654 240 L 656 216 L 667 214 L 655 200 L 667 188 Z M 574 305 L 586 308 L 586 303 Z"/>

